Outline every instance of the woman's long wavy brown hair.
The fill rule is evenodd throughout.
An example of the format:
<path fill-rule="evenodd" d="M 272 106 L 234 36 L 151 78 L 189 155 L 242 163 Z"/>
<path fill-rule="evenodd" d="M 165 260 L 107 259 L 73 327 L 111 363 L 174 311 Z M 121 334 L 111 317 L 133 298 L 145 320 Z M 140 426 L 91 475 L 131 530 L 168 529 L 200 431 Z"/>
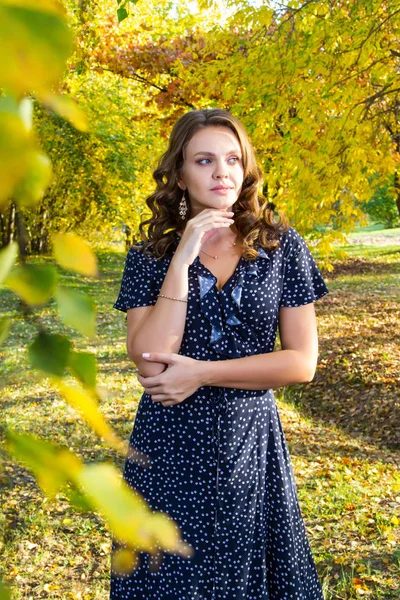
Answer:
<path fill-rule="evenodd" d="M 183 191 L 177 182 L 184 163 L 184 152 L 194 134 L 205 127 L 228 127 L 242 150 L 243 185 L 232 210 L 243 256 L 256 258 L 259 247 L 275 250 L 281 235 L 288 229 L 287 220 L 282 214 L 275 220 L 273 205 L 259 193 L 262 173 L 243 125 L 228 111 L 219 108 L 192 110 L 175 123 L 168 150 L 153 173 L 157 188 L 146 200 L 152 216 L 140 225 L 141 248 L 161 258 L 176 247 L 177 233 L 183 231 L 189 218 L 189 211 L 185 220 L 179 214 Z"/>

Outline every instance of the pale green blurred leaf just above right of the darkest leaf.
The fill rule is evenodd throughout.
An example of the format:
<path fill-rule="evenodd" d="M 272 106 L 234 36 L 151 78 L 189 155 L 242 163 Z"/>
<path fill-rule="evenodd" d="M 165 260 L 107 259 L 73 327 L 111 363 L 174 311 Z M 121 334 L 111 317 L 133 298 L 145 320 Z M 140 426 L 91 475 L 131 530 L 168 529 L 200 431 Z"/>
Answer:
<path fill-rule="evenodd" d="M 96 313 L 93 300 L 78 290 L 59 287 L 57 290 L 58 312 L 65 325 L 79 333 L 93 337 L 96 333 Z"/>

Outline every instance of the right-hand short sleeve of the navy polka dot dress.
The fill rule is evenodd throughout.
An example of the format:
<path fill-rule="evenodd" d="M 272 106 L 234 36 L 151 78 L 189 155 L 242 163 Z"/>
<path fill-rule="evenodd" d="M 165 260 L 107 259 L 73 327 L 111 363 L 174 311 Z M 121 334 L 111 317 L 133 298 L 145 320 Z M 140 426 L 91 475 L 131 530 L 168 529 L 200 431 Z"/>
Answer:
<path fill-rule="evenodd" d="M 304 239 L 292 227 L 285 235 L 283 263 L 280 306 L 302 306 L 329 293 Z"/>

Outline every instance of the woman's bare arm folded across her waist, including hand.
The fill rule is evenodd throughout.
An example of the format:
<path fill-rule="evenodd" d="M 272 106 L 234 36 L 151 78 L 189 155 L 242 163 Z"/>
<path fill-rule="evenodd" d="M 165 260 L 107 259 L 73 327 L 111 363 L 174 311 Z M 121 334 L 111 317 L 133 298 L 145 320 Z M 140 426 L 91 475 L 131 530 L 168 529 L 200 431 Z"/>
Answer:
<path fill-rule="evenodd" d="M 314 305 L 279 312 L 282 350 L 230 360 L 197 361 L 179 355 L 152 353 L 168 369 L 156 377 L 139 377 L 154 401 L 164 406 L 182 402 L 204 385 L 266 390 L 311 381 L 317 364 L 318 338 Z"/>

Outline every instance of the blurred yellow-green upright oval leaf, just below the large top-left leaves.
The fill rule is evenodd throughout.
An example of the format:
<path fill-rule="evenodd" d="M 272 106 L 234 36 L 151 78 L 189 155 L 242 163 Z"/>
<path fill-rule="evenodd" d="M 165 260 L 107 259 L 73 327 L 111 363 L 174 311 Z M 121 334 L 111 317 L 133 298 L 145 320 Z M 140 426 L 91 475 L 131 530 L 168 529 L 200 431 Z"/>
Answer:
<path fill-rule="evenodd" d="M 24 176 L 14 190 L 15 200 L 22 206 L 33 206 L 43 198 L 52 175 L 51 162 L 45 154 L 33 152 Z"/>

